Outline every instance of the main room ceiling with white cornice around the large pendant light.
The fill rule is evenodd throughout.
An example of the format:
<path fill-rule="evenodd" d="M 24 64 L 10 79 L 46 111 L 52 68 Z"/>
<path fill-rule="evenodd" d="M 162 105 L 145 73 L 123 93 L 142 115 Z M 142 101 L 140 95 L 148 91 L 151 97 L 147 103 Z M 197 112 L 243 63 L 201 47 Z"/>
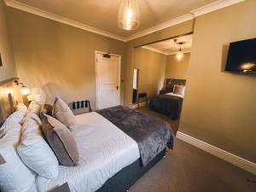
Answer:
<path fill-rule="evenodd" d="M 129 41 L 245 0 L 136 0 L 141 12 L 137 30 L 117 26 L 122 0 L 4 0 L 15 9 L 40 15 L 109 38 Z"/>

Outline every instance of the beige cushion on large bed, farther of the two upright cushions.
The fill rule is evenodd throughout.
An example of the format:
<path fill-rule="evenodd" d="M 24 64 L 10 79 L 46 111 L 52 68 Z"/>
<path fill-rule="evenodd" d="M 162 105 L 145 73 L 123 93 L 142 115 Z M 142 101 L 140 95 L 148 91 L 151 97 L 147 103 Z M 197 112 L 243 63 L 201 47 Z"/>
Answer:
<path fill-rule="evenodd" d="M 52 116 L 55 119 L 61 121 L 62 124 L 66 125 L 68 128 L 77 124 L 77 121 L 73 115 L 71 109 L 67 106 L 65 102 L 61 100 L 61 98 L 55 98 L 55 103 L 53 105 L 53 113 Z"/>

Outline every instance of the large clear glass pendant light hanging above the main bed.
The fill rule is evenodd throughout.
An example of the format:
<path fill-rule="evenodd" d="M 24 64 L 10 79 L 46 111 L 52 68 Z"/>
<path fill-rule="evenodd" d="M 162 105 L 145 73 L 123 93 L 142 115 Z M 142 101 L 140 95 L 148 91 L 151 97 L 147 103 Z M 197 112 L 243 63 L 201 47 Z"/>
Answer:
<path fill-rule="evenodd" d="M 123 0 L 119 7 L 118 26 L 125 30 L 137 29 L 140 25 L 140 10 L 136 0 Z"/>

